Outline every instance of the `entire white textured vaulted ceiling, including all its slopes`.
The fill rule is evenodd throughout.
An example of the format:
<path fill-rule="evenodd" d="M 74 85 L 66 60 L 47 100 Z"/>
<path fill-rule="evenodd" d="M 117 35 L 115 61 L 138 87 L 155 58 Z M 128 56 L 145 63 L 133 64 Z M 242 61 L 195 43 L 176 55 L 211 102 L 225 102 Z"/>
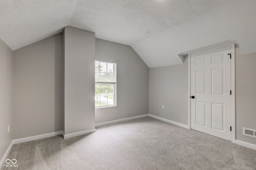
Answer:
<path fill-rule="evenodd" d="M 255 0 L 0 0 L 0 38 L 12 50 L 67 25 L 131 45 L 149 67 L 214 44 L 256 52 Z"/>

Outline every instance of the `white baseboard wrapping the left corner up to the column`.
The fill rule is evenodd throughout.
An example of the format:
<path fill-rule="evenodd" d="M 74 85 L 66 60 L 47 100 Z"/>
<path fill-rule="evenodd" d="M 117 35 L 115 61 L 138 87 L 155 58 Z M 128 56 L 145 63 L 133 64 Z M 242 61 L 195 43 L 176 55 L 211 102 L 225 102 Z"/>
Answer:
<path fill-rule="evenodd" d="M 12 142 L 10 143 L 8 149 L 6 150 L 6 152 L 4 153 L 4 156 L 2 157 L 2 159 L 0 161 L 0 168 L 3 166 L 4 161 L 7 159 L 7 156 L 10 153 L 12 146 L 14 144 L 28 142 L 28 141 L 34 141 L 37 139 L 43 139 L 46 137 L 52 137 L 52 136 L 56 136 L 56 135 L 62 135 L 62 133 L 63 133 L 63 131 L 58 131 L 58 132 L 46 133 L 46 134 L 42 134 L 42 135 L 36 135 L 36 136 L 32 136 L 32 137 L 24 137 L 24 138 L 12 140 Z"/>

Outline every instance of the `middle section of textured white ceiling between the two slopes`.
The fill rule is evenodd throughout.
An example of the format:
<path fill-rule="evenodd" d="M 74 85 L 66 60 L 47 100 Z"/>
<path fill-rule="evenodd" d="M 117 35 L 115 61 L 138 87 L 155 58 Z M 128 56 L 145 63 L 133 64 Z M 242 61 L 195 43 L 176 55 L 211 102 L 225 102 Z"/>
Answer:
<path fill-rule="evenodd" d="M 223 3 L 223 0 L 78 0 L 70 25 L 133 45 Z"/>

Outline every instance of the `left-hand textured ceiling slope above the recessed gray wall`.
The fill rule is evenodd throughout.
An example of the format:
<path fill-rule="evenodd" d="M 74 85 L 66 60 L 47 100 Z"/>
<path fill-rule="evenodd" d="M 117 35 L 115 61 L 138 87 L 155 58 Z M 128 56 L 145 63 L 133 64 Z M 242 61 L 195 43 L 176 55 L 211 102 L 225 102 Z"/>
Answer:
<path fill-rule="evenodd" d="M 0 38 L 16 50 L 63 31 L 77 0 L 0 0 Z"/>

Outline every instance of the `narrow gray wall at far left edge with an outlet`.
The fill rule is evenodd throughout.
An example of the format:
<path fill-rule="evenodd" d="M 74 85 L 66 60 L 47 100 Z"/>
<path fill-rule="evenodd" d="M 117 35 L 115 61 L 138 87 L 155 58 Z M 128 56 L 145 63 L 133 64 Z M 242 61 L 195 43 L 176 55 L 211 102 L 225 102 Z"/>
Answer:
<path fill-rule="evenodd" d="M 0 160 L 12 141 L 13 51 L 0 39 Z M 10 132 L 8 133 L 8 125 Z"/>

